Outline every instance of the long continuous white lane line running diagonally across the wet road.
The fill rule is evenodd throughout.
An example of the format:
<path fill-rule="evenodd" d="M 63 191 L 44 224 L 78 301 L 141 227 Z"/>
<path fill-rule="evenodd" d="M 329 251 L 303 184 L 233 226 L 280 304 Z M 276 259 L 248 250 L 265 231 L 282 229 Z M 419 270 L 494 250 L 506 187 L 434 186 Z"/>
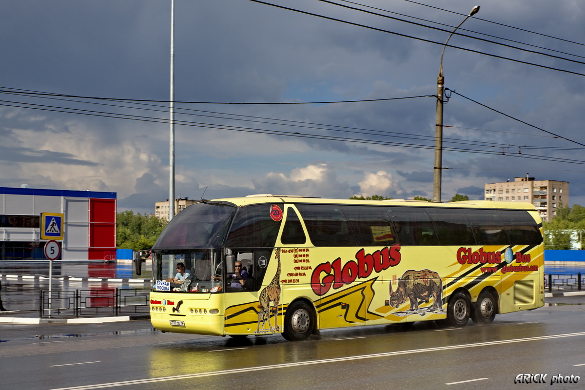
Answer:
<path fill-rule="evenodd" d="M 63 388 L 52 389 L 52 390 L 103 389 L 103 388 L 109 388 L 109 387 L 113 387 L 113 386 L 142 385 L 142 384 L 153 383 L 153 382 L 176 381 L 177 379 L 213 377 L 215 375 L 240 374 L 240 373 L 246 373 L 246 372 L 251 372 L 251 371 L 276 370 L 277 368 L 298 367 L 298 366 L 302 366 L 302 365 L 338 363 L 341 361 L 371 359 L 371 358 L 376 358 L 376 357 L 389 357 L 389 356 L 408 355 L 408 354 L 415 354 L 415 353 L 429 353 L 429 352 L 435 352 L 435 351 L 458 350 L 458 349 L 463 349 L 463 348 L 497 346 L 497 345 L 512 344 L 512 343 L 524 343 L 526 341 L 563 339 L 565 337 L 579 337 L 579 336 L 585 336 L 585 332 L 552 334 L 550 336 L 526 337 L 525 339 L 486 341 L 484 343 L 459 344 L 459 345 L 455 345 L 455 346 L 445 346 L 445 347 L 420 348 L 420 349 L 415 349 L 415 350 L 384 352 L 384 353 L 375 353 L 375 354 L 369 354 L 369 355 L 347 356 L 347 357 L 338 357 L 338 358 L 322 359 L 322 360 L 298 361 L 296 363 L 293 362 L 293 363 L 281 363 L 281 364 L 272 364 L 272 365 L 260 365 L 258 367 L 233 368 L 230 370 L 198 372 L 195 374 L 184 374 L 184 375 L 173 375 L 171 377 L 135 379 L 133 381 L 120 381 L 120 382 L 100 383 L 100 384 L 95 384 L 95 385 L 63 387 Z"/>

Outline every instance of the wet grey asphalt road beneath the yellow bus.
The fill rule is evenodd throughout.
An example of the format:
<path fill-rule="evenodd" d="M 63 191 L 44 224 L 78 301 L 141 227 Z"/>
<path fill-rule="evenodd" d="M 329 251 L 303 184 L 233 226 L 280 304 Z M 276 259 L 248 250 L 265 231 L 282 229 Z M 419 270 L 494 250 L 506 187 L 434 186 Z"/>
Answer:
<path fill-rule="evenodd" d="M 531 388 L 581 389 L 583 346 L 585 296 L 549 298 L 487 326 L 325 330 L 301 343 L 163 334 L 147 320 L 0 324 L 0 378 L 2 389 L 499 390 L 542 374 L 546 384 Z M 558 375 L 573 382 L 550 385 Z"/>

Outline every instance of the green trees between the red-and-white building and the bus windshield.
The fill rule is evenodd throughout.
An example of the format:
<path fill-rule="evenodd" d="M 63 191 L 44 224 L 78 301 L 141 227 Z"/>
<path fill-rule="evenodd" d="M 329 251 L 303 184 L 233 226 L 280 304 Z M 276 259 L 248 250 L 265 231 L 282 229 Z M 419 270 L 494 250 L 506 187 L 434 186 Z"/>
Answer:
<path fill-rule="evenodd" d="M 132 210 L 117 214 L 116 247 L 119 249 L 150 249 L 167 225 L 166 220 L 141 215 Z"/>

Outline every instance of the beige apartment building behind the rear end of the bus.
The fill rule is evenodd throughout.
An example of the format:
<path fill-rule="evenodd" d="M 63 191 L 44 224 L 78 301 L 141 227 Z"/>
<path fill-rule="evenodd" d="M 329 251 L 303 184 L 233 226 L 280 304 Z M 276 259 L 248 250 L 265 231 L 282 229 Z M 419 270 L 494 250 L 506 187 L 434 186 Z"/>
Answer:
<path fill-rule="evenodd" d="M 534 177 L 515 177 L 514 181 L 485 185 L 486 201 L 530 202 L 543 221 L 556 216 L 556 209 L 569 205 L 569 182 L 534 180 Z"/>

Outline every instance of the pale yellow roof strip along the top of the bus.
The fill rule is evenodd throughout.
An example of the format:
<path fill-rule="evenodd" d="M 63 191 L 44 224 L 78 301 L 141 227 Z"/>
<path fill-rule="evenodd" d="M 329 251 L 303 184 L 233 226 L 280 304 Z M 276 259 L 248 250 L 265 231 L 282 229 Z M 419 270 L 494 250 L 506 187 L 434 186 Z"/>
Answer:
<path fill-rule="evenodd" d="M 312 198 L 300 195 L 272 195 L 257 194 L 248 195 L 242 198 L 223 198 L 214 201 L 230 202 L 236 206 L 256 205 L 261 203 L 315 203 L 315 204 L 338 204 L 338 205 L 378 205 L 378 206 L 431 206 L 431 207 L 453 207 L 453 208 L 480 208 L 480 209 L 520 209 L 535 210 L 535 206 L 529 202 L 494 202 L 494 201 L 459 201 L 449 203 L 435 203 L 427 201 L 414 201 L 410 199 L 388 199 L 387 201 L 366 201 L 359 199 L 325 199 Z"/>

